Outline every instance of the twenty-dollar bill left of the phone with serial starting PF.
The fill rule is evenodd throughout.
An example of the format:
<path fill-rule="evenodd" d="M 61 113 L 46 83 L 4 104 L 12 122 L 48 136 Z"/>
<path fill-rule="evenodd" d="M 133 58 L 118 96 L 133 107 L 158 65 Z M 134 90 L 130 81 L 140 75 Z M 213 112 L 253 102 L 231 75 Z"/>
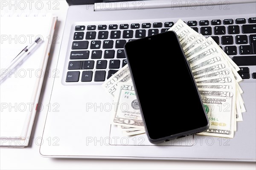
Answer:
<path fill-rule="evenodd" d="M 143 128 L 137 97 L 132 83 L 119 82 L 114 97 L 115 111 L 111 117 L 111 124 Z"/>

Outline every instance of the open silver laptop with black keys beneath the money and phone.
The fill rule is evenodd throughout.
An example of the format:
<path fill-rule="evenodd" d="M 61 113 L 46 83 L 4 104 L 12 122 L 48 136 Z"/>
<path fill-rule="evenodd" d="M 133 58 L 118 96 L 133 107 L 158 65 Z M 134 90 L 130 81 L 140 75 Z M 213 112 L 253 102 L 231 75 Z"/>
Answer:
<path fill-rule="evenodd" d="M 48 109 L 42 137 L 44 142 L 40 147 L 42 156 L 256 161 L 254 0 L 116 0 L 112 3 L 108 0 L 67 0 L 67 3 L 70 7 L 56 66 L 58 75 L 55 76 L 49 101 L 52 108 Z M 243 121 L 237 122 L 233 139 L 191 135 L 151 144 L 145 133 L 123 136 L 110 123 L 109 107 L 113 98 L 101 85 L 127 64 L 123 49 L 125 42 L 140 38 L 136 35 L 137 30 L 145 30 L 143 36 L 157 34 L 167 31 L 179 19 L 198 33 L 213 37 L 226 53 L 232 48 L 229 56 L 243 68 L 239 73 L 243 78 L 240 86 L 244 91 L 242 97 L 247 112 L 243 113 Z M 224 35 L 215 34 L 215 24 L 225 27 L 224 35 L 231 36 L 232 43 L 224 42 Z M 229 34 L 228 26 L 236 26 L 237 34 Z M 207 31 L 202 31 L 205 27 Z M 128 39 L 122 38 L 127 31 L 133 34 L 129 34 Z M 241 37 L 243 39 L 239 41 Z M 241 46 L 248 50 L 242 51 Z M 111 60 L 118 61 L 115 68 L 111 66 Z M 160 57 L 157 60 L 158 63 L 164 62 Z M 154 69 L 160 67 L 158 65 Z M 92 73 L 89 78 L 83 76 L 86 71 Z M 177 75 L 173 76 L 177 78 Z"/>

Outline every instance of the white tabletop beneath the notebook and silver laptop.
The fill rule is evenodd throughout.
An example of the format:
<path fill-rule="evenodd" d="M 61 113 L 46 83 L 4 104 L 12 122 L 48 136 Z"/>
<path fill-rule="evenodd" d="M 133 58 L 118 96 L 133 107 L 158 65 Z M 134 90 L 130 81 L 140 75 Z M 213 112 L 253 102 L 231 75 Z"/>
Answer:
<path fill-rule="evenodd" d="M 18 1 L 17 1 L 18 2 Z M 26 1 L 25 1 L 26 2 Z M 36 3 L 36 1 L 33 1 Z M 43 1 L 41 1 L 43 2 Z M 48 0 L 44 3 L 49 2 Z M 0 169 L 256 169 L 255 162 L 217 162 L 217 161 L 158 161 L 158 160 L 113 160 L 113 159 L 52 159 L 44 158 L 39 154 L 39 144 L 44 129 L 47 114 L 47 102 L 53 83 L 53 70 L 56 67 L 58 52 L 64 29 L 67 3 L 60 0 L 58 3 L 51 1 L 51 8 L 57 6 L 59 10 L 50 10 L 58 16 L 56 25 L 55 43 L 52 45 L 47 65 L 43 89 L 39 103 L 42 103 L 41 111 L 35 117 L 29 147 L 26 148 L 0 148 Z M 32 3 L 32 4 L 34 4 Z M 32 6 L 34 7 L 34 6 Z M 49 11 L 47 4 L 47 11 Z M 6 9 L 6 8 L 4 8 Z M 59 76 L 61 74 L 58 74 Z M 52 106 L 53 108 L 53 106 Z M 49 141 L 45 141 L 49 142 Z"/>

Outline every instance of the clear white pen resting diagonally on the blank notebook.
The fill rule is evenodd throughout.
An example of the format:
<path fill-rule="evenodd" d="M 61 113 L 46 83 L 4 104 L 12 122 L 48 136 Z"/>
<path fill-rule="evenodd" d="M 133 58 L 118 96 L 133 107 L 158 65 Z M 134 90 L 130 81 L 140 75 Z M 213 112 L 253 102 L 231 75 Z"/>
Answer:
<path fill-rule="evenodd" d="M 38 43 L 41 41 L 41 38 L 35 40 L 35 42 L 32 42 L 32 44 L 26 46 L 8 65 L 6 69 L 1 70 L 1 76 L 0 76 L 0 82 L 9 74 L 10 71 L 12 71 L 27 55 L 30 54 L 33 49 L 38 45 Z"/>

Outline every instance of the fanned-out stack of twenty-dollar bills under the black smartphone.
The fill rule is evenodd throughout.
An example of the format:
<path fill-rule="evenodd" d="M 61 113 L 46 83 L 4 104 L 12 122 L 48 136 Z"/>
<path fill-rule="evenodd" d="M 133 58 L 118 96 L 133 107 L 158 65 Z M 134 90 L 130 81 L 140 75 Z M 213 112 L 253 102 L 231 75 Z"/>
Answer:
<path fill-rule="evenodd" d="M 233 138 L 236 122 L 243 120 L 245 112 L 239 67 L 211 37 L 198 34 L 182 20 L 169 31 L 175 31 L 179 38 L 209 119 L 209 129 L 198 134 Z M 102 87 L 113 96 L 115 104 L 111 124 L 124 135 L 145 133 L 128 65 Z"/>

